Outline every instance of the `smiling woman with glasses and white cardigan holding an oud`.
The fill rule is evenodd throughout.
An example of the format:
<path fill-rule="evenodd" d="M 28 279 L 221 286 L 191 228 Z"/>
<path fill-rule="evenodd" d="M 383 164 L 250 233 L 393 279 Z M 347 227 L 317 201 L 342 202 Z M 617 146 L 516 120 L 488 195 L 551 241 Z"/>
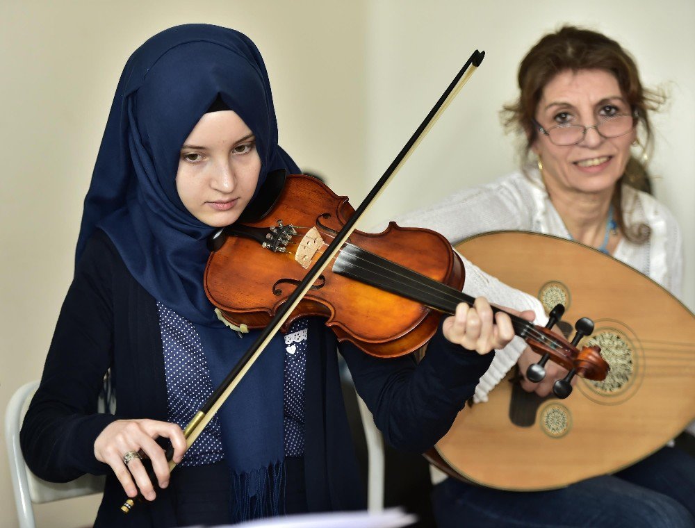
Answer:
<path fill-rule="evenodd" d="M 499 229 L 537 231 L 578 240 L 610 254 L 680 294 L 682 240 L 667 208 L 643 190 L 637 161 L 651 147 L 648 112 L 662 103 L 641 85 L 621 46 L 594 31 L 566 26 L 530 49 L 518 71 L 520 95 L 505 107 L 507 126 L 523 133 L 519 172 L 397 220 L 426 226 L 452 243 Z M 635 151 L 633 151 L 635 147 Z M 493 285 L 493 286 L 491 286 Z M 494 286 L 497 285 L 497 286 Z M 489 281 L 466 264 L 471 295 L 526 306 L 528 296 Z M 515 298 L 516 295 L 516 298 Z M 536 313 L 542 313 L 537 308 Z M 514 363 L 520 372 L 539 356 L 510 344 L 498 351 L 476 388 L 487 394 Z M 546 396 L 564 370 L 549 365 L 525 390 Z M 542 461 L 539 461 L 542 463 Z M 564 489 L 514 493 L 445 479 L 434 488 L 441 527 L 692 527 L 695 459 L 666 447 L 630 468 Z"/>

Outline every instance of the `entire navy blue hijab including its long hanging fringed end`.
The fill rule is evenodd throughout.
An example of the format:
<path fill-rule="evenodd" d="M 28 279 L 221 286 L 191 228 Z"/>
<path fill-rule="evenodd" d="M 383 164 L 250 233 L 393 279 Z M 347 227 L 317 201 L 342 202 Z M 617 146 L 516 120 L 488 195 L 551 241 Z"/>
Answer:
<path fill-rule="evenodd" d="M 159 302 L 193 322 L 213 386 L 253 342 L 218 321 L 204 294 L 206 237 L 214 230 L 179 198 L 184 140 L 222 99 L 256 136 L 259 186 L 273 170 L 300 172 L 277 145 L 268 74 L 255 45 L 237 31 L 190 24 L 158 33 L 129 58 L 106 123 L 85 198 L 76 258 L 103 229 L 133 277 Z M 256 194 L 259 187 L 256 187 Z M 220 409 L 233 475 L 234 520 L 278 513 L 284 471 L 284 346 L 277 336 Z"/>

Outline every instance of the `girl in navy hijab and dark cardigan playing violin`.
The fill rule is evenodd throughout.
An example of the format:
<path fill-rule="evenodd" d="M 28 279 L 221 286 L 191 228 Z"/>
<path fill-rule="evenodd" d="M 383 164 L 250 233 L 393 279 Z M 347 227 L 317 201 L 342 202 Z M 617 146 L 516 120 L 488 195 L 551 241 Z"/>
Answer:
<path fill-rule="evenodd" d="M 106 474 L 95 526 L 360 509 L 336 350 L 386 441 L 424 452 L 473 395 L 486 352 L 512 338 L 509 317 L 493 317 L 484 299 L 459 306 L 418 365 L 338 346 L 321 320 L 297 320 L 186 451 L 181 426 L 254 341 L 254 332 L 240 339 L 224 327 L 206 299 L 206 237 L 234 223 L 275 170 L 300 172 L 277 143 L 268 74 L 245 35 L 177 26 L 133 53 L 85 198 L 74 280 L 21 433 L 26 462 L 43 479 Z M 113 415 L 97 413 L 107 371 Z M 171 475 L 161 440 L 179 463 Z M 138 452 L 152 460 L 158 488 Z M 147 501 L 124 515 L 120 505 L 136 486 Z"/>

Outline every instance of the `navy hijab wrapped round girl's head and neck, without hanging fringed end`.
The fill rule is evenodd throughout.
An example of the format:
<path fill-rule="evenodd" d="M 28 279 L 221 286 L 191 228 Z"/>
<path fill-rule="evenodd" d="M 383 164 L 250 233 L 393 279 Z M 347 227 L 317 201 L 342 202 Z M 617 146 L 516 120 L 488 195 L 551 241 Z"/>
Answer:
<path fill-rule="evenodd" d="M 183 141 L 218 96 L 256 136 L 259 186 L 273 170 L 300 172 L 277 144 L 268 73 L 254 43 L 207 24 L 167 29 L 123 70 L 76 250 L 79 259 L 92 231 L 104 229 L 145 290 L 191 322 L 213 325 L 202 287 L 213 228 L 183 206 L 175 176 Z"/>

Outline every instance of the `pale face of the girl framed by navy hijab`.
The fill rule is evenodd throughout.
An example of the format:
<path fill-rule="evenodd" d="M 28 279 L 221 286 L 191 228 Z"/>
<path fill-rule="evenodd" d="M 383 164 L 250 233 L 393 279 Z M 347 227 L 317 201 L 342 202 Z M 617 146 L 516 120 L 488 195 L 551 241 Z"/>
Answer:
<path fill-rule="evenodd" d="M 251 129 L 232 110 L 203 115 L 181 147 L 176 187 L 204 224 L 233 224 L 256 191 L 261 158 Z"/>

